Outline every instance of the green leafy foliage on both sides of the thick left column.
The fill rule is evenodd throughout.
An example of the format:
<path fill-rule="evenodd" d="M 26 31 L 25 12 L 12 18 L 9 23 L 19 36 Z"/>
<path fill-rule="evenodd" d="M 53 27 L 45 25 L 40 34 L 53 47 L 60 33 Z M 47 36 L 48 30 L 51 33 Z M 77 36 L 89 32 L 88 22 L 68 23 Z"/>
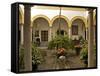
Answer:
<path fill-rule="evenodd" d="M 39 65 L 42 62 L 42 56 L 35 44 L 32 44 L 32 65 Z M 19 48 L 19 69 L 24 69 L 24 47 Z"/>

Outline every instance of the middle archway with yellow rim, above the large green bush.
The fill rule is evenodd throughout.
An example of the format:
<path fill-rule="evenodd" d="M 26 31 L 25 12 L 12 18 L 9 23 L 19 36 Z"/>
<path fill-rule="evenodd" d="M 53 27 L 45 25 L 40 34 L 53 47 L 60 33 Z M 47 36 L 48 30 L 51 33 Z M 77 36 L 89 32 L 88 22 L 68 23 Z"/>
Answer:
<path fill-rule="evenodd" d="M 57 35 L 58 29 L 60 28 L 62 35 L 68 35 L 69 20 L 65 16 L 61 16 L 59 23 L 59 16 L 55 16 L 52 21 L 52 35 L 55 37 Z"/>

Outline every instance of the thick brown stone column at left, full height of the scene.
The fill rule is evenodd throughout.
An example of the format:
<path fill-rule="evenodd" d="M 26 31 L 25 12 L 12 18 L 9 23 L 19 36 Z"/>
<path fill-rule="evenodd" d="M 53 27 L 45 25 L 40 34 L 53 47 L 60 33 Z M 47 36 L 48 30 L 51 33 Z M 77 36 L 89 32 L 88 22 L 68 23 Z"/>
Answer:
<path fill-rule="evenodd" d="M 31 52 L 31 8 L 24 6 L 24 66 L 25 71 L 32 71 Z"/>

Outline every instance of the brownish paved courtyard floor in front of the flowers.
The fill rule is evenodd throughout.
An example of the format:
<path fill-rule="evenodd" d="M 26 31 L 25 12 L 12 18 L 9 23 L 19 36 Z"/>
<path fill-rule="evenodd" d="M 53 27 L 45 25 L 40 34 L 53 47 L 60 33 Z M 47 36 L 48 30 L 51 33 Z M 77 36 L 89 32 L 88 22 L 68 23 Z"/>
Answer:
<path fill-rule="evenodd" d="M 52 70 L 52 69 L 71 69 L 84 68 L 84 64 L 80 61 L 79 56 L 69 55 L 65 60 L 57 59 L 54 50 L 44 50 L 44 62 L 38 66 L 38 70 Z"/>

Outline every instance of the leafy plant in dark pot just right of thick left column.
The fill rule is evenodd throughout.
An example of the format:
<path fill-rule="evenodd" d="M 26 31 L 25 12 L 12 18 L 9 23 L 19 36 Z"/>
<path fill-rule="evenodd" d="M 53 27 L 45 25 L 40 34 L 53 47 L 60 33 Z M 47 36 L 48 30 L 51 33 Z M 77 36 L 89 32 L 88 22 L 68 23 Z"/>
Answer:
<path fill-rule="evenodd" d="M 32 70 L 38 69 L 38 65 L 42 62 L 42 56 L 39 49 L 33 44 L 32 45 Z"/>

